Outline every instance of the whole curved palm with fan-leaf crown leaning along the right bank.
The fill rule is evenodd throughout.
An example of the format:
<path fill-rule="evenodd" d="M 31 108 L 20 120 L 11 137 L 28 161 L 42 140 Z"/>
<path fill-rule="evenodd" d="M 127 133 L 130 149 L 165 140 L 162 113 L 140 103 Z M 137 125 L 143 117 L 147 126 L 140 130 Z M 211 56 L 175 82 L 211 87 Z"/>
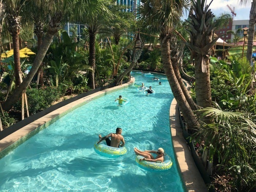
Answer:
<path fill-rule="evenodd" d="M 170 59 L 170 38 L 177 22 L 182 15 L 182 9 L 187 8 L 189 1 L 154 1 L 143 0 L 138 8 L 138 15 L 141 22 L 145 22 L 146 28 L 151 31 L 160 33 L 161 55 L 163 69 L 171 86 L 173 95 L 188 122 L 188 127 L 199 126 L 197 118 L 193 113 L 187 99 L 185 98 L 181 86 L 176 78 L 172 61 Z"/>

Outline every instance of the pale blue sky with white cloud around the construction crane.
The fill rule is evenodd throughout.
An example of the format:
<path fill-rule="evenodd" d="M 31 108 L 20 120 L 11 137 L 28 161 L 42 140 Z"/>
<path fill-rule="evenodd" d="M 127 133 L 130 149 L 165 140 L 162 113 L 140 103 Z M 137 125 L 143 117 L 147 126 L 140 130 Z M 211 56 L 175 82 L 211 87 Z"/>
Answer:
<path fill-rule="evenodd" d="M 207 2 L 210 2 L 210 0 Z M 215 16 L 219 16 L 221 13 L 228 13 L 231 15 L 231 11 L 227 7 L 227 4 L 231 7 L 232 10 L 233 7 L 235 8 L 234 12 L 237 15 L 234 17 L 234 20 L 249 20 L 251 1 L 248 0 L 246 4 L 241 4 L 240 1 L 237 0 L 213 0 L 212 4 L 210 5 L 210 9 Z M 184 20 L 184 18 L 187 18 L 187 16 L 185 15 L 182 20 Z"/>

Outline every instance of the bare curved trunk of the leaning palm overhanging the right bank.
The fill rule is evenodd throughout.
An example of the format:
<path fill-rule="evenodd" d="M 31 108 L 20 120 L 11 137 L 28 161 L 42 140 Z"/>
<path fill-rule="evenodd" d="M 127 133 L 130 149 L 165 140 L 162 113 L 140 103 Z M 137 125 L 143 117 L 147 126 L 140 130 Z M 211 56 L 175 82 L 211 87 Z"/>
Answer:
<path fill-rule="evenodd" d="M 169 81 L 173 95 L 178 103 L 178 106 L 181 109 L 182 114 L 184 115 L 185 121 L 187 122 L 188 128 L 199 126 L 199 122 L 195 114 L 193 113 L 192 109 L 190 108 L 174 73 L 170 59 L 170 43 L 167 37 L 161 39 L 161 54 L 163 61 L 163 69 Z"/>

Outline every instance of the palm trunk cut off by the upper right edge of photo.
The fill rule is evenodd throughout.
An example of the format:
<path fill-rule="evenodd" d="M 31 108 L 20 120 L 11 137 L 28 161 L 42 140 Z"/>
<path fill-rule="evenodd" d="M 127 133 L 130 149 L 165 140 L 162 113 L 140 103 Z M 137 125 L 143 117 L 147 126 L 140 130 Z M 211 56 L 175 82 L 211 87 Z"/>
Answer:
<path fill-rule="evenodd" d="M 251 11 L 250 11 L 250 20 L 249 20 L 249 31 L 248 31 L 248 45 L 246 58 L 249 63 L 252 63 L 252 48 L 253 48 L 253 38 L 254 38 L 254 27 L 256 23 L 256 0 L 252 1 Z"/>

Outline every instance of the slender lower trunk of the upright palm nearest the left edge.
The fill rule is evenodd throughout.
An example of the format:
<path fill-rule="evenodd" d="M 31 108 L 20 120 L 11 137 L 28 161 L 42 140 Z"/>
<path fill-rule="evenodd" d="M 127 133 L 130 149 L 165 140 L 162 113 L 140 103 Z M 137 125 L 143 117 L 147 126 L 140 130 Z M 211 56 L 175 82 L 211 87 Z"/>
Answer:
<path fill-rule="evenodd" d="M 19 55 L 19 35 L 12 35 L 13 55 L 14 55 L 14 71 L 15 71 L 15 87 L 20 85 L 19 74 L 21 73 L 20 55 Z"/>

